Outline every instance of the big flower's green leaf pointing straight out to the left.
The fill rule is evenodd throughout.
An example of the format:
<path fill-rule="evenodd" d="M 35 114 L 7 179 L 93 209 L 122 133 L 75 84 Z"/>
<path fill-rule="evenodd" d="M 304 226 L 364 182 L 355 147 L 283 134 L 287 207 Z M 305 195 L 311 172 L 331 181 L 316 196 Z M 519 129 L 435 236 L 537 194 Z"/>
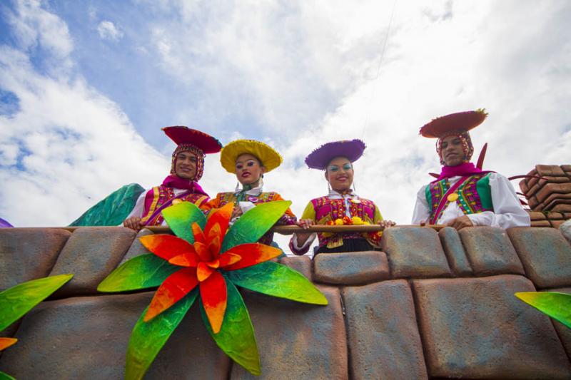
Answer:
<path fill-rule="evenodd" d="M 168 261 L 152 253 L 136 256 L 113 270 L 101 281 L 97 290 L 113 293 L 158 287 L 178 269 L 181 267 L 168 264 Z"/>

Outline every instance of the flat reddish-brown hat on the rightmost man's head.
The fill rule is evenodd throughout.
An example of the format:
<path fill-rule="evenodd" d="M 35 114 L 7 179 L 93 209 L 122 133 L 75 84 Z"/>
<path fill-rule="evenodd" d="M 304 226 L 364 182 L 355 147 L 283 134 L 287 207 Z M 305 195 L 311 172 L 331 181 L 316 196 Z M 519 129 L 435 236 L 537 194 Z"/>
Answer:
<path fill-rule="evenodd" d="M 435 118 L 420 128 L 420 135 L 428 138 L 442 138 L 454 132 L 468 132 L 476 128 L 486 118 L 485 109 L 450 113 L 450 115 Z"/>

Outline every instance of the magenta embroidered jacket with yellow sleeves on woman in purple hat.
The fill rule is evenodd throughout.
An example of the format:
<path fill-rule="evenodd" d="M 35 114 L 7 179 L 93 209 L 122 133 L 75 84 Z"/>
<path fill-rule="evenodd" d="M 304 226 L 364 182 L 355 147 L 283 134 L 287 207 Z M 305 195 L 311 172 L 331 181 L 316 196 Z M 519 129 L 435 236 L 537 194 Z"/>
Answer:
<path fill-rule="evenodd" d="M 353 197 L 352 199 L 343 197 L 319 197 L 310 200 L 308 205 L 303 211 L 301 219 L 311 219 L 317 225 L 330 224 L 337 219 L 343 217 L 360 217 L 363 222 L 367 224 L 378 224 L 383 217 L 375 203 L 371 200 L 364 198 Z M 344 234 L 326 234 L 319 232 L 317 234 L 319 240 L 319 247 L 324 245 L 328 248 L 340 247 L 343 245 L 343 240 L 347 239 L 363 239 L 365 238 L 370 242 L 373 247 L 380 247 L 380 232 L 375 233 L 344 233 Z M 308 251 L 310 244 L 306 243 L 305 247 L 298 249 L 293 245 L 293 239 L 290 240 L 290 250 L 292 252 L 303 255 Z"/>

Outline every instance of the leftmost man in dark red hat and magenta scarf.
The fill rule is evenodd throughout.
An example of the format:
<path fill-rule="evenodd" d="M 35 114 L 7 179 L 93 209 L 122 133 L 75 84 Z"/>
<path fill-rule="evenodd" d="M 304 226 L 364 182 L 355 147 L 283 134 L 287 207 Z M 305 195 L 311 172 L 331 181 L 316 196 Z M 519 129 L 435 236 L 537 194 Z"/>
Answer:
<path fill-rule="evenodd" d="M 220 152 L 222 144 L 211 135 L 184 126 L 163 128 L 176 149 L 171 159 L 171 173 L 159 186 L 143 192 L 123 222 L 125 227 L 140 230 L 145 225 L 164 224 L 161 210 L 176 202 L 192 202 L 202 207 L 209 197 L 198 180 L 204 170 L 204 155 Z"/>

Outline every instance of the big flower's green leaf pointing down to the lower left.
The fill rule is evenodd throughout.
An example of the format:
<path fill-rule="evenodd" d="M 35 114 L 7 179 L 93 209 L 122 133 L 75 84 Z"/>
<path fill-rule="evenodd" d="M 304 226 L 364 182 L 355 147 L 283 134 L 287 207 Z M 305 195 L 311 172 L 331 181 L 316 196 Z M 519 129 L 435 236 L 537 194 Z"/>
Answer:
<path fill-rule="evenodd" d="M 178 324 L 181 323 L 188 309 L 191 308 L 198 289 L 188 293 L 183 299 L 168 308 L 149 322 L 143 322 L 148 307 L 138 319 L 127 348 L 125 379 L 142 379 L 157 354 Z M 189 337 L 190 339 L 191 337 Z"/>

